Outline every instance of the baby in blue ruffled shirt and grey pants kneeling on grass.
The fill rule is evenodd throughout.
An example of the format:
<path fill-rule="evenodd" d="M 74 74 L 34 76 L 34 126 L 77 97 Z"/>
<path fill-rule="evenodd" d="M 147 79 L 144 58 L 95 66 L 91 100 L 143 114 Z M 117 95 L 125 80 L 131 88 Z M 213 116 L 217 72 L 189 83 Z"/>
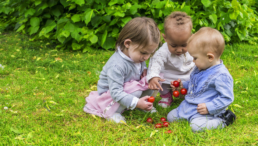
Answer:
<path fill-rule="evenodd" d="M 234 122 L 235 114 L 225 111 L 234 101 L 234 94 L 233 78 L 220 60 L 224 45 L 222 34 L 210 27 L 202 27 L 190 37 L 188 52 L 196 67 L 190 80 L 181 84 L 181 88 L 188 89 L 187 95 L 168 113 L 169 122 L 187 120 L 193 132 L 224 128 Z"/>

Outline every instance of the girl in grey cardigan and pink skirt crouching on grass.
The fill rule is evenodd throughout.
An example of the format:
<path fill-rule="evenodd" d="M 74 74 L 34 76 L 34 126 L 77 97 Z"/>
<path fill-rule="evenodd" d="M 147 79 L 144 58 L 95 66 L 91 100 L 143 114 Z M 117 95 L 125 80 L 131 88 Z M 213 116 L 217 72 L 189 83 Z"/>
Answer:
<path fill-rule="evenodd" d="M 148 89 L 146 60 L 160 44 L 160 32 L 155 21 L 136 17 L 125 24 L 116 41 L 116 51 L 100 73 L 97 91 L 86 97 L 83 110 L 116 123 L 126 123 L 121 113 L 140 108 L 157 112 L 146 100 Z"/>

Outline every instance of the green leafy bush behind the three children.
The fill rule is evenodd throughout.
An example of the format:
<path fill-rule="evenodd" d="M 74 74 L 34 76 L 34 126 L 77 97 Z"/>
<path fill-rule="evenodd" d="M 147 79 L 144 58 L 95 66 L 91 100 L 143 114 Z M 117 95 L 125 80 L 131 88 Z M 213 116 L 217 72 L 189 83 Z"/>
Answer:
<path fill-rule="evenodd" d="M 193 32 L 209 26 L 227 42 L 258 40 L 257 0 L 1 0 L 0 7 L 0 31 L 14 29 L 83 52 L 114 48 L 122 27 L 137 16 L 155 19 L 163 30 L 172 11 L 190 15 Z"/>

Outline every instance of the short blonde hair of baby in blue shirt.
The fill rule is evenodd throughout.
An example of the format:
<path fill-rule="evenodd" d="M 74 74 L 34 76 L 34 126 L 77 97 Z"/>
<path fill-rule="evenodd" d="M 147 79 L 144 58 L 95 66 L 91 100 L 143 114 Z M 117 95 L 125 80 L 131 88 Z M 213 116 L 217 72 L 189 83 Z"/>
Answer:
<path fill-rule="evenodd" d="M 194 33 L 190 37 L 188 45 L 190 43 L 195 43 L 200 49 L 198 51 L 203 51 L 205 54 L 212 53 L 217 57 L 221 56 L 225 47 L 223 35 L 218 30 L 210 27 L 202 27 Z"/>

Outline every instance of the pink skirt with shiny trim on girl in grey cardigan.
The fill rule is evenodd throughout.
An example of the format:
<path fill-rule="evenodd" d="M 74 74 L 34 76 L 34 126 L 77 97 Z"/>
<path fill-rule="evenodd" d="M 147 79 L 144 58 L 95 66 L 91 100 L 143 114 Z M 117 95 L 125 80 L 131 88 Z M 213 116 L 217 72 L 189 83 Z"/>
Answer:
<path fill-rule="evenodd" d="M 143 77 L 140 81 L 131 80 L 124 83 L 124 92 L 130 94 L 137 90 L 145 91 L 148 89 L 148 83 L 146 76 Z M 97 91 L 90 92 L 90 95 L 85 98 L 86 104 L 83 107 L 83 111 L 86 113 L 94 114 L 103 118 L 111 116 L 115 113 L 120 106 L 120 103 L 115 102 L 110 96 L 110 92 L 105 92 L 98 95 Z"/>

